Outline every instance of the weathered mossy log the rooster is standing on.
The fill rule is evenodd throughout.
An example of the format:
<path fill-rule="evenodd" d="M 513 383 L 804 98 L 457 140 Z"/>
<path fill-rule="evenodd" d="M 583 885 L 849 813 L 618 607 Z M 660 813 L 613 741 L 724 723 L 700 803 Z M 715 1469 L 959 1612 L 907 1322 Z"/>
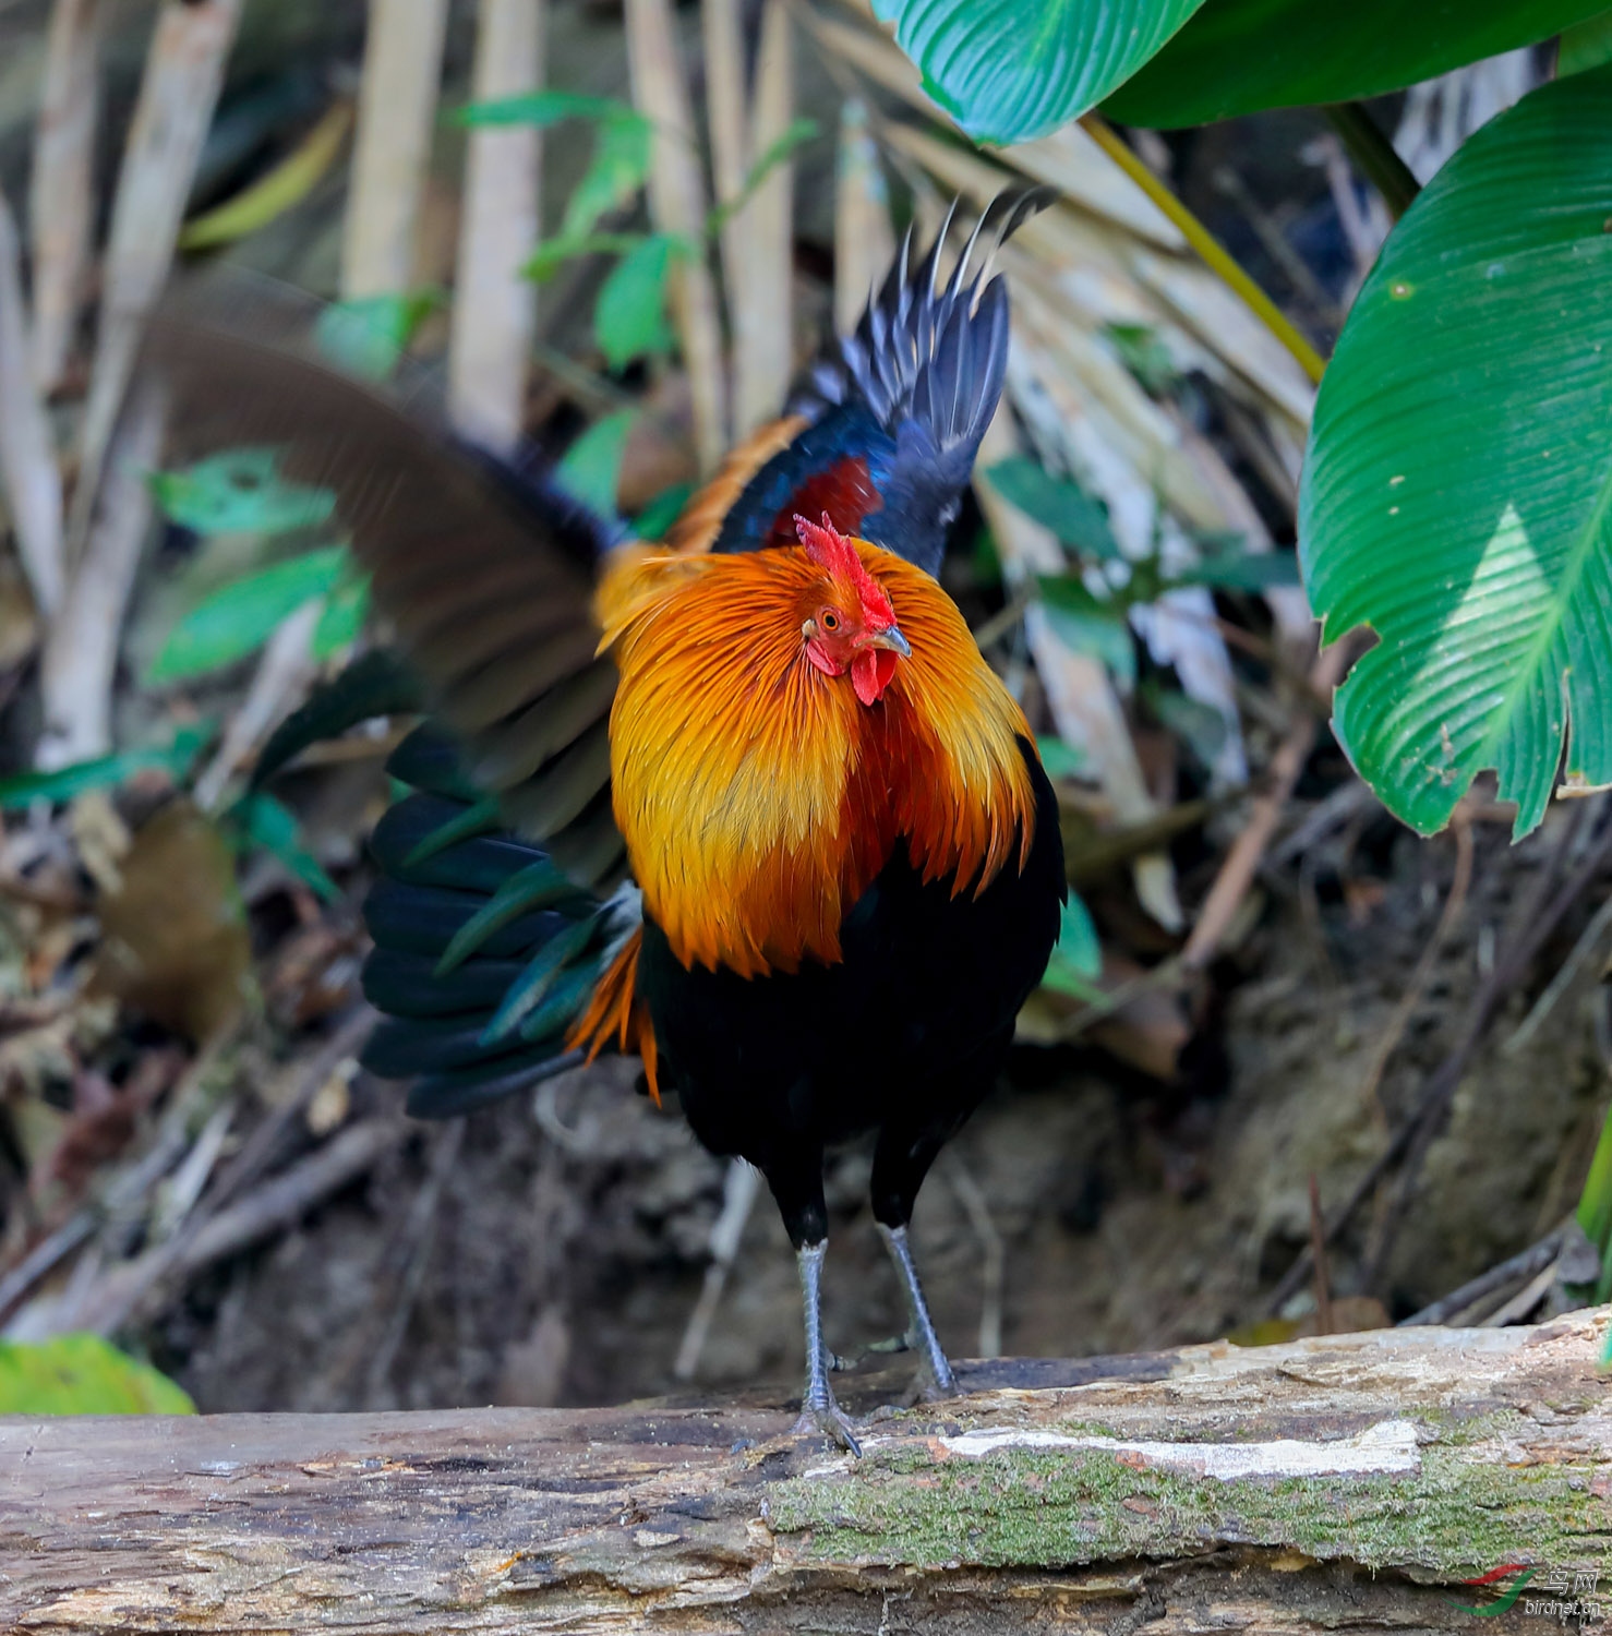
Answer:
<path fill-rule="evenodd" d="M 1592 1600 L 1607 1317 L 975 1364 L 861 1463 L 745 1404 L 0 1422 L 0 1625 L 1471 1628 L 1507 1562 Z"/>

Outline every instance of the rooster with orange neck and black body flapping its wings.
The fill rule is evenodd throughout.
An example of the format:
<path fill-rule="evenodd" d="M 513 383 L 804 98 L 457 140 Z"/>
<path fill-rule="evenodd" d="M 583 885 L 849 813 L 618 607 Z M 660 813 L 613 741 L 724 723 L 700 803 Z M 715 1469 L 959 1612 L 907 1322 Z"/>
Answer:
<path fill-rule="evenodd" d="M 800 1263 L 802 1428 L 854 1448 L 818 1312 L 823 1152 L 874 1132 L 872 1207 L 925 1384 L 954 1391 L 907 1242 L 1057 939 L 1064 856 L 1029 728 L 936 582 L 1002 391 L 1006 291 L 903 250 L 854 335 L 696 496 L 614 545 L 543 481 L 190 316 L 159 329 L 208 430 L 334 486 L 440 726 L 391 771 L 371 1070 L 447 1117 L 637 1052 L 766 1176 Z M 370 707 L 373 710 L 373 707 Z"/>

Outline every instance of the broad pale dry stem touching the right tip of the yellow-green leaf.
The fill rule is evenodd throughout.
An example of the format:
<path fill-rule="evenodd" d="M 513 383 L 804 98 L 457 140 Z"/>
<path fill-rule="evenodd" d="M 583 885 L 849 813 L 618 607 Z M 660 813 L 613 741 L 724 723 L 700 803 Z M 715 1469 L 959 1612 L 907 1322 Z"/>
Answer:
<path fill-rule="evenodd" d="M 358 136 L 342 240 L 342 294 L 401 294 L 414 280 L 447 0 L 370 0 Z"/>

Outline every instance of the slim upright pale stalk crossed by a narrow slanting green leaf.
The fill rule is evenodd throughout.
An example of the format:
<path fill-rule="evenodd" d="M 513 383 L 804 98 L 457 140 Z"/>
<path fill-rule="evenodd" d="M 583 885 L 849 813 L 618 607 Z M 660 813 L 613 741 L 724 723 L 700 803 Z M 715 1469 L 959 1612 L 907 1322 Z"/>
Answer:
<path fill-rule="evenodd" d="M 787 0 L 764 0 L 751 105 L 751 164 L 794 118 L 795 52 Z M 784 402 L 795 366 L 794 348 L 794 200 L 795 167 L 772 165 L 740 213 L 748 262 L 735 329 L 733 430 L 743 437 L 771 420 Z"/>

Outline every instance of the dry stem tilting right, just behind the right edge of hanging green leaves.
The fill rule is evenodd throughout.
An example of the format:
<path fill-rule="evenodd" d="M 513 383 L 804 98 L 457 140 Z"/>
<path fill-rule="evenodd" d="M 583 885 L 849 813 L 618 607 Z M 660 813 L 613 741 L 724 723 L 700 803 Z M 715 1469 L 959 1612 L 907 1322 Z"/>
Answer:
<path fill-rule="evenodd" d="M 728 448 L 727 381 L 717 286 L 705 262 L 705 182 L 669 0 L 627 0 L 627 65 L 633 101 L 655 126 L 650 211 L 661 232 L 694 249 L 673 267 L 673 306 L 694 399 L 694 450 L 715 471 Z"/>

